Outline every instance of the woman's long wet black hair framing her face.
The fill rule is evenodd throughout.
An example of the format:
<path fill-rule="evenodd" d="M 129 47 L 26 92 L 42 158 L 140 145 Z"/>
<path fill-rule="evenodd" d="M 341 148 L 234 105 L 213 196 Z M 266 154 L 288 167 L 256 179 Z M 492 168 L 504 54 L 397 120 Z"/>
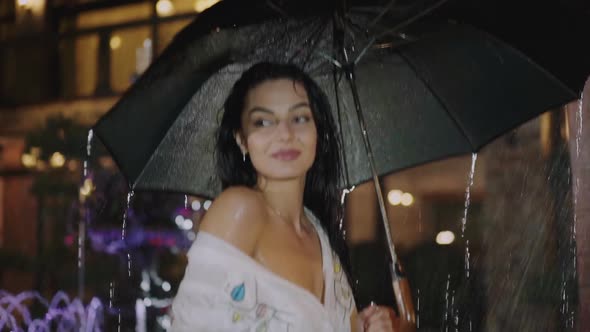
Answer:
<path fill-rule="evenodd" d="M 341 176 L 340 142 L 328 98 L 303 70 L 292 64 L 261 62 L 246 70 L 234 84 L 224 104 L 217 134 L 216 162 L 222 188 L 256 185 L 257 174 L 250 158 L 243 161 L 235 134 L 242 128 L 242 112 L 248 92 L 265 81 L 290 79 L 305 88 L 317 128 L 316 157 L 305 177 L 303 204 L 319 219 L 338 254 L 351 287 L 350 260 L 340 229 L 343 218 L 338 181 Z"/>

